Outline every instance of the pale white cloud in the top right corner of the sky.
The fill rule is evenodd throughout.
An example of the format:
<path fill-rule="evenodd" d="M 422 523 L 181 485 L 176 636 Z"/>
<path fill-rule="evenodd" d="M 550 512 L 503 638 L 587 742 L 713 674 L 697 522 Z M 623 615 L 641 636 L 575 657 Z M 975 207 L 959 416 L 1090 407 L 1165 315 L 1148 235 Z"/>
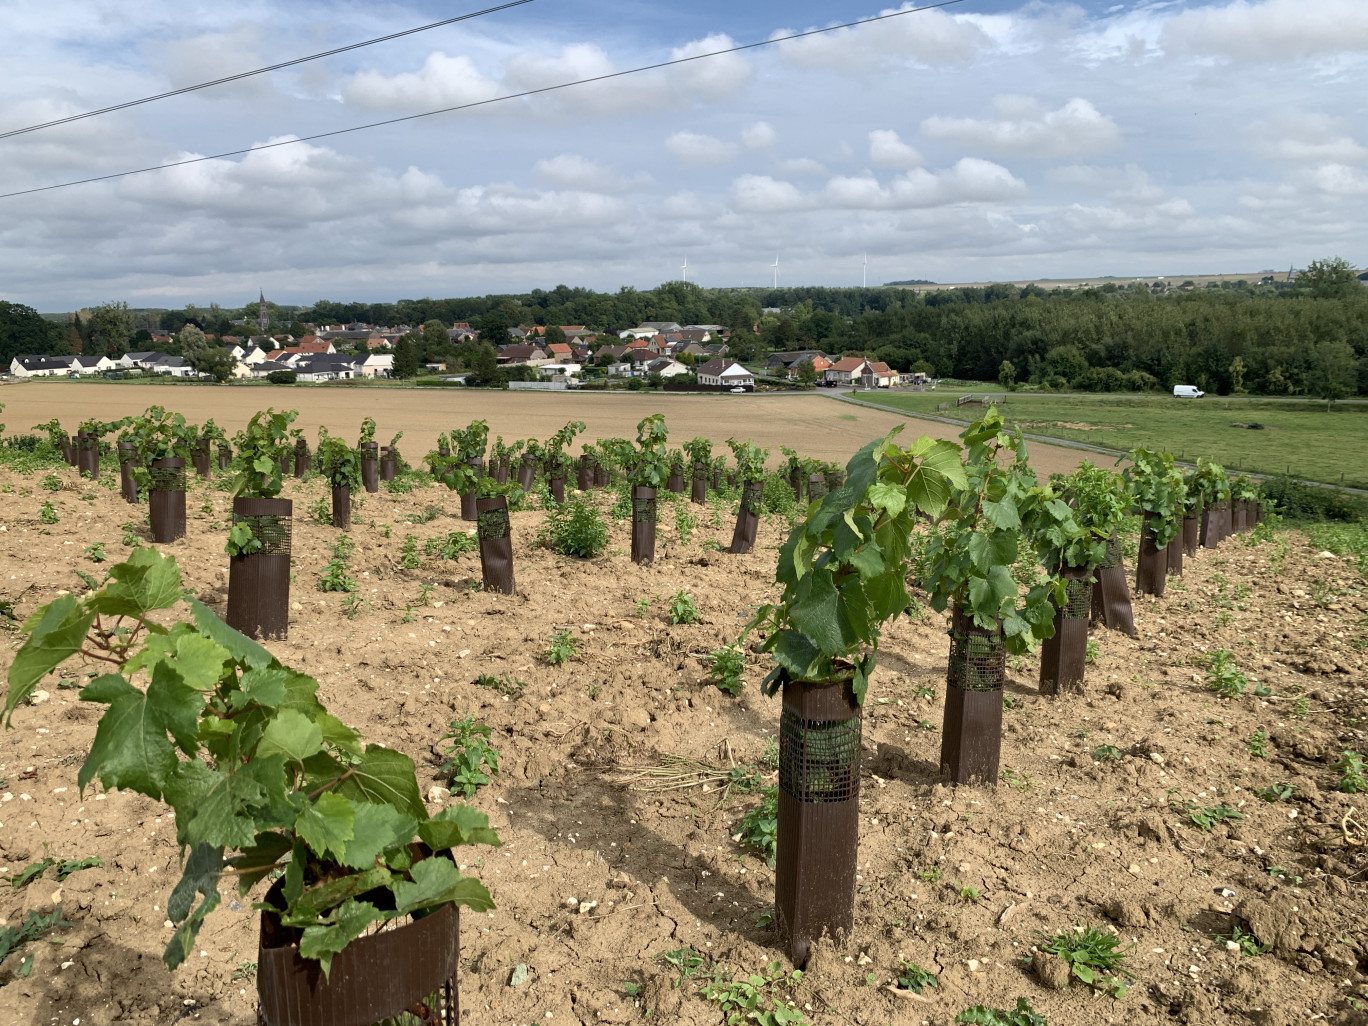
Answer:
<path fill-rule="evenodd" d="M 1363 0 L 1234 0 L 1186 10 L 1167 21 L 1166 53 L 1286 63 L 1368 52 L 1368 4 Z"/>

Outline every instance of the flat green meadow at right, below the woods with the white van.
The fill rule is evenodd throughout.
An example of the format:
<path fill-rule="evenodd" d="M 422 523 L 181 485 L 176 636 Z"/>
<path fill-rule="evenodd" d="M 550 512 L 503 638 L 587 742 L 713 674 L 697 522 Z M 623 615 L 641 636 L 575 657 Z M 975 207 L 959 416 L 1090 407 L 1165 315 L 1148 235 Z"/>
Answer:
<path fill-rule="evenodd" d="M 860 393 L 910 415 L 932 413 L 956 394 L 888 395 Z M 963 419 L 981 406 L 951 406 L 948 416 Z M 1227 469 L 1287 473 L 1306 480 L 1368 488 L 1368 405 L 1337 404 L 1326 412 L 1319 402 L 1260 399 L 1175 399 L 1168 395 L 1097 398 L 1089 395 L 1011 397 L 1004 408 L 1008 423 L 1023 431 L 1071 442 L 1088 442 L 1129 451 L 1138 446 L 1171 451 L 1183 460 L 1204 456 Z M 1259 423 L 1263 430 L 1245 424 Z"/>

